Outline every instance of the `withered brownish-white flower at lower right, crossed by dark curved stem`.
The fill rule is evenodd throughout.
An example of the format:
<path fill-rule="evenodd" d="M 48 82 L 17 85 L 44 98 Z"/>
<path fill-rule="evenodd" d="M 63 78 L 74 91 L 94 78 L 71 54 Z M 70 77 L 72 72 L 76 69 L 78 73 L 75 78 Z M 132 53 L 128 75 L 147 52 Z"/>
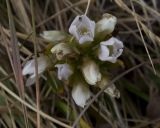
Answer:
<path fill-rule="evenodd" d="M 109 80 L 107 78 L 103 77 L 102 80 L 99 82 L 98 86 L 100 88 L 103 88 L 108 83 L 109 83 Z M 120 97 L 120 92 L 116 88 L 115 84 L 110 85 L 107 89 L 104 90 L 104 92 L 107 93 L 108 95 L 110 95 L 111 97 L 116 97 L 116 98 Z"/>

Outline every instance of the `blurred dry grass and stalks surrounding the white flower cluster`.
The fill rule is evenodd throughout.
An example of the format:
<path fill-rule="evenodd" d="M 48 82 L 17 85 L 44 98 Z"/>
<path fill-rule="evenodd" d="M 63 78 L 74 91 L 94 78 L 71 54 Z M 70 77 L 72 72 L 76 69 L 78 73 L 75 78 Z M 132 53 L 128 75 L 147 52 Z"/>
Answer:
<path fill-rule="evenodd" d="M 41 128 L 69 128 L 75 124 L 83 109 L 74 104 L 71 90 L 63 86 L 50 69 L 39 81 L 38 103 L 41 111 L 37 111 L 36 86 L 24 86 L 20 62 L 23 65 L 35 54 L 34 39 L 37 54 L 49 47 L 50 43 L 39 36 L 44 30 L 68 32 L 74 17 L 84 14 L 87 2 L 0 0 L 1 128 L 39 127 L 37 113 L 40 114 Z M 116 87 L 121 93 L 119 99 L 101 93 L 75 127 L 160 127 L 159 6 L 158 0 L 91 0 L 87 15 L 95 21 L 104 13 L 116 16 L 118 23 L 113 35 L 124 42 L 121 64 L 110 69 L 111 78 L 138 64 L 142 65 L 116 80 Z M 94 94 L 99 91 L 92 90 Z"/>

